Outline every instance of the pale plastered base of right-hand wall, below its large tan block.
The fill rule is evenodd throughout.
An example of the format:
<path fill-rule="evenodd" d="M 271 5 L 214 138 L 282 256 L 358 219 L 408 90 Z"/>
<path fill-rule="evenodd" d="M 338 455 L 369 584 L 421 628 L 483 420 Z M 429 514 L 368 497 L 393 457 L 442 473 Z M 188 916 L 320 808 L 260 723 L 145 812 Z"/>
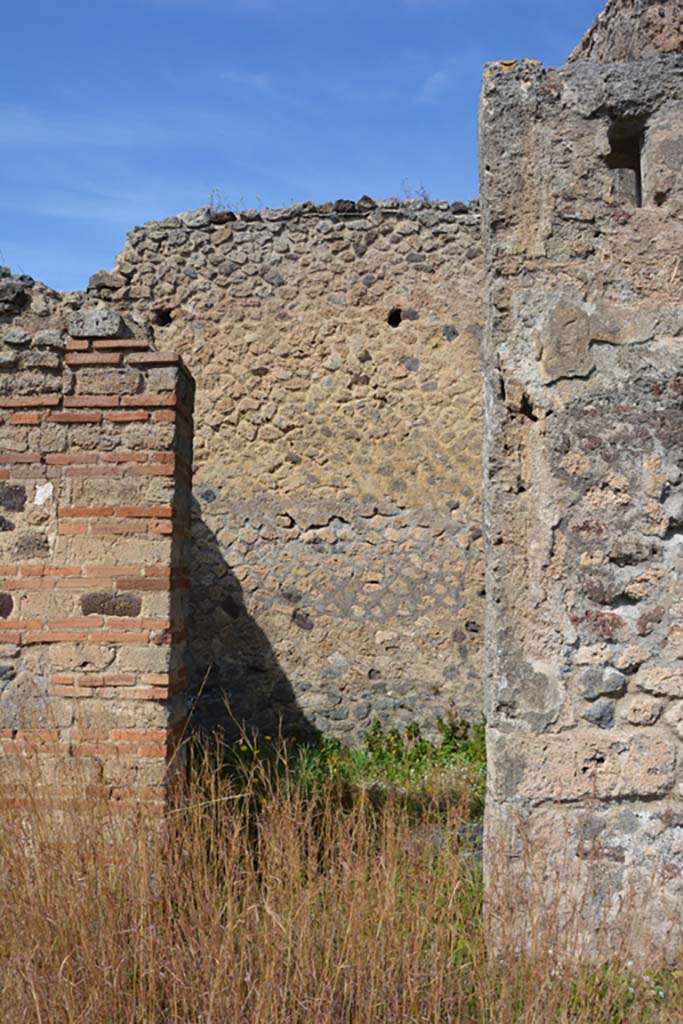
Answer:
<path fill-rule="evenodd" d="M 683 898 L 677 812 L 595 801 L 542 804 L 523 815 L 501 805 L 499 812 L 501 827 L 487 851 L 495 872 L 487 891 L 493 949 L 500 947 L 498 914 L 505 913 L 506 935 L 523 936 L 531 910 L 550 948 L 566 948 L 570 936 L 569 955 L 604 964 L 618 941 L 644 970 L 663 955 L 677 965 L 672 936 Z M 509 899 L 511 885 L 516 902 Z"/>

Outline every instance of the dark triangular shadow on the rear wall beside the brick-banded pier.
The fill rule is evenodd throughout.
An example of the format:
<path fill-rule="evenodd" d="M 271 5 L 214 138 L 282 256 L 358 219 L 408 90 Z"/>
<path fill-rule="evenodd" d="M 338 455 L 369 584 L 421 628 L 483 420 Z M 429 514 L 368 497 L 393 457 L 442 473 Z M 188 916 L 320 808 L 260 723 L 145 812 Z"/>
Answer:
<path fill-rule="evenodd" d="M 194 499 L 187 667 L 196 731 L 228 740 L 242 730 L 308 740 L 319 735 L 247 612 L 242 585 Z"/>

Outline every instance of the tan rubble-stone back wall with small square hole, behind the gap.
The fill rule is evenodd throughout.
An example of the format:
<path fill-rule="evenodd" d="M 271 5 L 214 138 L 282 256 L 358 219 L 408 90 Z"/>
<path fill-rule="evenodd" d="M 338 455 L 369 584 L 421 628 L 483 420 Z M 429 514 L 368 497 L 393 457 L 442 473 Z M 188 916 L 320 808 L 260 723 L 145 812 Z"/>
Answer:
<path fill-rule="evenodd" d="M 91 280 L 198 381 L 196 722 L 480 716 L 482 278 L 476 204 L 366 197 L 147 224 Z"/>

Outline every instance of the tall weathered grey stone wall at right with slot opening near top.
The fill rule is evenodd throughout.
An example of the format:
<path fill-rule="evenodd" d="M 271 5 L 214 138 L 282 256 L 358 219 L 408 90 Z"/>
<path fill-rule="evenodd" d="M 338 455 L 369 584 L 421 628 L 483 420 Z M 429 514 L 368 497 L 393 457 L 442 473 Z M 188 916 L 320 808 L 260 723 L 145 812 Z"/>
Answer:
<path fill-rule="evenodd" d="M 615 40 L 635 5 L 610 5 L 582 56 L 663 48 L 653 9 L 643 5 L 643 37 L 627 51 Z M 683 909 L 681 138 L 683 56 L 486 68 L 492 914 L 502 857 L 524 934 L 544 908 L 528 880 L 545 879 L 547 896 L 554 878 L 550 910 L 566 925 L 580 907 L 594 951 L 600 927 L 626 927 L 631 911 L 640 951 L 652 942 L 672 956 Z"/>

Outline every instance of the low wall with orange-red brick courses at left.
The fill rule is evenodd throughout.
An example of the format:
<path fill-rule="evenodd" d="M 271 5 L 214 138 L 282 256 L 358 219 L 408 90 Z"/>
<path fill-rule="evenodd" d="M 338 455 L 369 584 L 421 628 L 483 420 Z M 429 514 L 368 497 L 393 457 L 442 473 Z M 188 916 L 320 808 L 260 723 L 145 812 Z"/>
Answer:
<path fill-rule="evenodd" d="M 138 325 L 0 274 L 3 802 L 28 764 L 51 793 L 163 797 L 186 717 L 193 391 Z"/>

